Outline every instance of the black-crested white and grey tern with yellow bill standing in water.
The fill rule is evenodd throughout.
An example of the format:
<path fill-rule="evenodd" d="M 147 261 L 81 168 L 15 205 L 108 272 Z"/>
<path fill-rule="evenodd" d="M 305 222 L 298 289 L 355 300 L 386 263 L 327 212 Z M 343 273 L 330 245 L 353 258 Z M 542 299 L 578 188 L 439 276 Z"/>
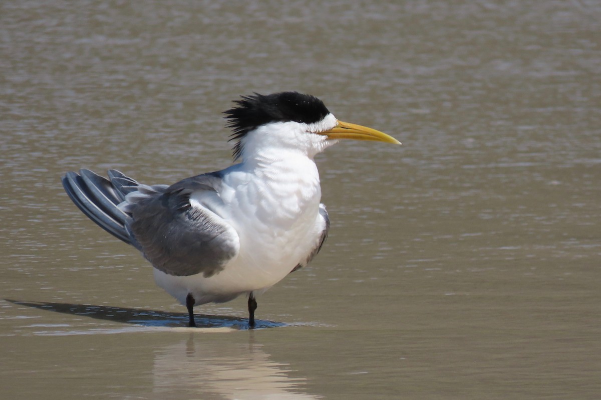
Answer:
<path fill-rule="evenodd" d="M 400 145 L 335 118 L 313 95 L 254 93 L 224 112 L 234 164 L 172 185 L 146 185 L 115 169 L 67 172 L 64 190 L 97 225 L 152 264 L 154 280 L 188 310 L 257 296 L 322 249 L 330 220 L 314 157 L 341 139 Z M 237 163 L 236 163 L 237 161 Z"/>

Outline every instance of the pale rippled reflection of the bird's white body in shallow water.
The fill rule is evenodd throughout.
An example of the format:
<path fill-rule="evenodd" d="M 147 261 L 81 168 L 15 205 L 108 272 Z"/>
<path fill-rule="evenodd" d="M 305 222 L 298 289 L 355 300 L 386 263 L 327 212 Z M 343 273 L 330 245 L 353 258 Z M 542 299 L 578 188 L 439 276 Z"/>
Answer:
<path fill-rule="evenodd" d="M 302 393 L 304 379 L 291 378 L 286 364 L 274 362 L 263 345 L 188 339 L 163 347 L 154 357 L 154 392 L 190 392 L 225 399 L 316 399 Z M 204 397 L 203 397 L 204 398 Z"/>

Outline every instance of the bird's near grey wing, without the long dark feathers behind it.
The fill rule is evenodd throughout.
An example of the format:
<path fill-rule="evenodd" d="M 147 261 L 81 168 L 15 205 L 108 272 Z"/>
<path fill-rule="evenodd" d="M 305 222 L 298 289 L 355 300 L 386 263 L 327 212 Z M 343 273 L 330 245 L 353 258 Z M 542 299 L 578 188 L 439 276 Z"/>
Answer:
<path fill-rule="evenodd" d="M 127 230 L 156 269 L 169 275 L 219 273 L 240 249 L 234 228 L 209 207 L 192 206 L 191 194 L 219 199 L 221 177 L 210 173 L 184 179 L 162 193 L 134 192 L 124 207 Z"/>

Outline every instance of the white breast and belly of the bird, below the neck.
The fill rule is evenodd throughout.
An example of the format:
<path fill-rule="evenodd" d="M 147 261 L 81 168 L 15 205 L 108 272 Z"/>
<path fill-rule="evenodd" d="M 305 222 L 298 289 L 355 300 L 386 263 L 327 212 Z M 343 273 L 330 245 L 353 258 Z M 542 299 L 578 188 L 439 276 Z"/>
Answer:
<path fill-rule="evenodd" d="M 324 228 L 317 169 L 303 178 L 280 172 L 278 179 L 266 181 L 263 176 L 231 174 L 220 193 L 225 203 L 221 216 L 239 234 L 237 257 L 209 278 L 155 269 L 156 283 L 181 303 L 191 293 L 199 305 L 261 293 L 281 281 L 313 251 Z"/>

